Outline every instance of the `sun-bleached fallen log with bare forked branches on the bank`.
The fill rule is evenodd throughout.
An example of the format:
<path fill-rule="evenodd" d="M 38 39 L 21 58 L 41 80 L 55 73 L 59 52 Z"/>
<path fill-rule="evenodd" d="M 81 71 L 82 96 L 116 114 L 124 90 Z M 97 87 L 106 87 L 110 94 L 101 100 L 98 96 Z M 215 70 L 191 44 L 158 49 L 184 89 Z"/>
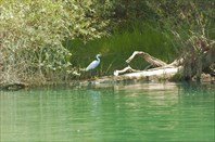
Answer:
<path fill-rule="evenodd" d="M 150 63 L 154 68 L 147 69 L 147 70 L 136 70 L 131 68 L 130 66 L 125 67 L 124 69 L 115 70 L 114 76 L 124 77 L 124 78 L 144 78 L 148 80 L 153 79 L 181 79 L 181 78 L 188 78 L 193 77 L 194 75 L 198 75 L 198 69 L 193 69 L 193 66 L 197 65 L 197 60 L 201 59 L 201 70 L 206 74 L 211 74 L 212 76 L 215 75 L 215 70 L 210 67 L 210 65 L 215 63 L 215 48 L 212 48 L 207 52 L 204 52 L 202 54 L 202 57 L 193 57 L 192 60 L 188 60 L 191 57 L 189 54 L 184 55 L 180 59 L 175 60 L 174 62 L 167 64 L 143 51 L 135 51 L 128 60 L 126 60 L 127 63 L 129 63 L 136 55 L 140 55 L 143 57 L 148 63 Z M 189 75 L 185 74 L 188 70 L 187 61 L 189 61 L 189 67 L 190 72 Z M 197 67 L 195 67 L 197 68 Z M 129 72 L 129 73 L 128 73 Z M 134 73 L 130 73 L 134 72 Z M 125 74 L 128 73 L 128 74 Z"/>

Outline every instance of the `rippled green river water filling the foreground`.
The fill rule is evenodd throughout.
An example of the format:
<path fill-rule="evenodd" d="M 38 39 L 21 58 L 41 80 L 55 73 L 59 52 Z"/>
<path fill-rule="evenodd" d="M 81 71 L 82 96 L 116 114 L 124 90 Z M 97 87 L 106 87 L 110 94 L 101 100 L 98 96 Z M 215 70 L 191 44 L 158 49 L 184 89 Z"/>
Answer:
<path fill-rule="evenodd" d="M 136 83 L 0 92 L 0 141 L 212 142 L 215 85 Z"/>

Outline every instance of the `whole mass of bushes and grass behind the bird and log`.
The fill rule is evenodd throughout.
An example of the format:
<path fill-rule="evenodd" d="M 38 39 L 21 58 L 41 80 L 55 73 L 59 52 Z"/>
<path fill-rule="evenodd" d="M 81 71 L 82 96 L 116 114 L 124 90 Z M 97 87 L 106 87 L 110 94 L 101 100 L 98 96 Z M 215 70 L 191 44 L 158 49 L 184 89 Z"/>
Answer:
<path fill-rule="evenodd" d="M 100 75 L 125 67 L 134 50 L 165 61 L 181 48 L 198 56 L 198 43 L 215 38 L 214 7 L 213 0 L 1 0 L 0 83 L 64 81 L 99 52 Z"/>

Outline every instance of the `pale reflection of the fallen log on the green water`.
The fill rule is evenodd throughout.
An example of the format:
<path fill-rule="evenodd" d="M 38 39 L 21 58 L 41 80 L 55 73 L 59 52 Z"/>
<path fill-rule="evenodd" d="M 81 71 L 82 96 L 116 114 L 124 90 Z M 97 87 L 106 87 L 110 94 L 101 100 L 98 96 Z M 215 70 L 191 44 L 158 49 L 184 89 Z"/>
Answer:
<path fill-rule="evenodd" d="M 143 95 L 151 105 L 174 105 L 178 103 L 177 83 L 140 83 L 114 86 L 115 92 L 125 92 L 129 96 Z M 138 100 L 137 100 L 138 101 Z"/>

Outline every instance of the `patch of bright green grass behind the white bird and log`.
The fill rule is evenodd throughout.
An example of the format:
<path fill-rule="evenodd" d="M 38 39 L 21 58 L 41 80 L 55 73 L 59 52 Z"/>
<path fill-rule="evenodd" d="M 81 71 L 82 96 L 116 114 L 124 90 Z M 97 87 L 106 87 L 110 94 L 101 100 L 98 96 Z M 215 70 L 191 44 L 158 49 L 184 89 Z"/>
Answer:
<path fill-rule="evenodd" d="M 79 39 L 67 41 L 66 47 L 73 53 L 72 64 L 81 68 L 93 61 L 96 54 L 101 53 L 101 64 L 97 69 L 99 76 L 113 75 L 115 69 L 126 67 L 128 64 L 125 61 L 134 51 L 148 52 L 165 62 L 172 61 L 175 54 L 169 37 L 142 23 L 135 25 L 131 30 L 116 30 L 109 37 L 87 43 Z M 137 69 L 143 69 L 147 65 L 141 57 L 130 63 L 130 66 Z"/>

